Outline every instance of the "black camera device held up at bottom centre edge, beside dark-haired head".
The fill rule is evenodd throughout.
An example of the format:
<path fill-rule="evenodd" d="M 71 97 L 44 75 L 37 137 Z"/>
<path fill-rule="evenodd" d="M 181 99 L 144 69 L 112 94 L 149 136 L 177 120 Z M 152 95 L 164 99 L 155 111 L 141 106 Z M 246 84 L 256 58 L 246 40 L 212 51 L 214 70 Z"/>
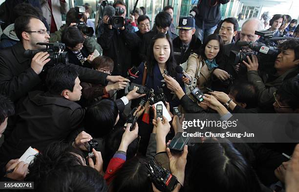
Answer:
<path fill-rule="evenodd" d="M 172 192 L 178 183 L 176 176 L 164 169 L 154 158 L 146 161 L 146 168 L 149 171 L 149 179 L 161 192 Z"/>

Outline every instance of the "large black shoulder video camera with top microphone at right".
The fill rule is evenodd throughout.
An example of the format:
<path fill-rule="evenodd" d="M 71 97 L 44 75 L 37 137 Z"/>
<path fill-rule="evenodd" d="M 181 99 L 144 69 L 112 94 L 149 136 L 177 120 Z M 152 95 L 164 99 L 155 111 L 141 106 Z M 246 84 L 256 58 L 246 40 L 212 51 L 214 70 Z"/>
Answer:
<path fill-rule="evenodd" d="M 266 40 L 265 43 L 238 41 L 238 46 L 247 46 L 251 49 L 251 51 L 231 51 L 229 56 L 229 62 L 231 64 L 241 64 L 242 61 L 248 63 L 246 57 L 250 55 L 256 55 L 259 68 L 262 69 L 274 66 L 275 60 L 280 53 L 280 49 L 276 46 L 270 46 L 271 42 L 286 40 L 289 38 L 272 38 L 273 32 L 266 30 L 256 31 L 255 34 L 261 36 L 261 38 L 264 38 Z"/>

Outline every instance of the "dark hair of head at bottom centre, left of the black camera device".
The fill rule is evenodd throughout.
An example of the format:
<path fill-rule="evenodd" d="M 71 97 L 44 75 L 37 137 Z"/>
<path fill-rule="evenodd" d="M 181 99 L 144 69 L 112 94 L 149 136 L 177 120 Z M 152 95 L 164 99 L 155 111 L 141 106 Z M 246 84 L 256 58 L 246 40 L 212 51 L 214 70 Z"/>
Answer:
<path fill-rule="evenodd" d="M 134 157 L 116 172 L 110 185 L 113 192 L 152 192 L 144 159 Z"/>

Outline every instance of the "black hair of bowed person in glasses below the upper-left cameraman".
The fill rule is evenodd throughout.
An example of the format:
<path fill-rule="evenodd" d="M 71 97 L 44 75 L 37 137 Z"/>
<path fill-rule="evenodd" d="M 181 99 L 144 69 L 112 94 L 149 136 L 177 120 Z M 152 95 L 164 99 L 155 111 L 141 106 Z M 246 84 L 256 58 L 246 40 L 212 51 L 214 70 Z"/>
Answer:
<path fill-rule="evenodd" d="M 84 37 L 77 27 L 66 27 L 63 31 L 61 42 L 68 47 L 75 47 L 84 42 Z"/>

